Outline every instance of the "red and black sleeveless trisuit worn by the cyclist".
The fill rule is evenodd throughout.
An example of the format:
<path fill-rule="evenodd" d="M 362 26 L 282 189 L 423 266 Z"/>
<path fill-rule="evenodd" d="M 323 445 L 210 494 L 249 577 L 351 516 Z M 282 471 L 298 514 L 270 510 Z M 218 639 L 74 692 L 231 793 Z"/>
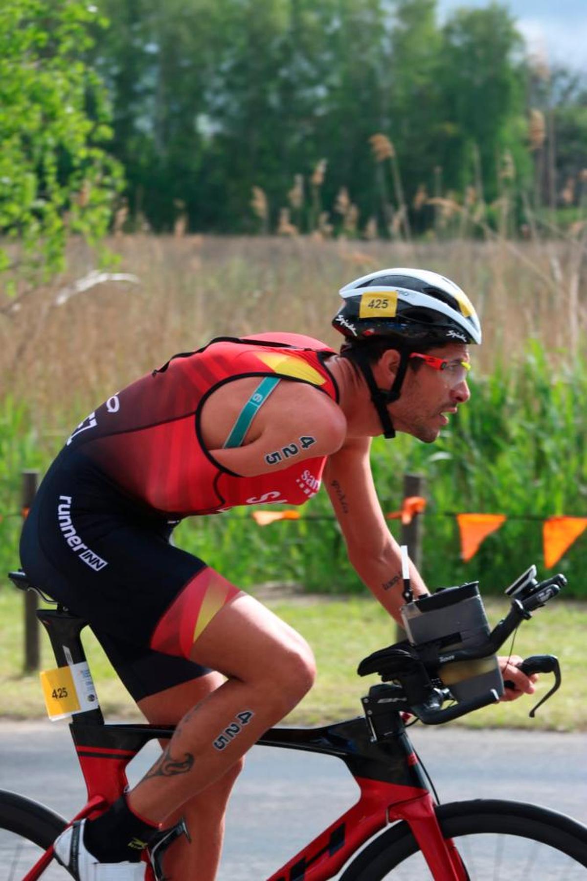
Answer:
<path fill-rule="evenodd" d="M 238 594 L 170 544 L 173 527 L 238 505 L 302 505 L 318 492 L 326 462 L 294 457 L 285 469 L 240 477 L 202 443 L 204 403 L 247 376 L 307 382 L 338 401 L 333 354 L 298 334 L 212 340 L 109 397 L 48 470 L 26 518 L 22 565 L 88 621 L 135 700 L 207 672 L 188 660 L 190 649 Z"/>

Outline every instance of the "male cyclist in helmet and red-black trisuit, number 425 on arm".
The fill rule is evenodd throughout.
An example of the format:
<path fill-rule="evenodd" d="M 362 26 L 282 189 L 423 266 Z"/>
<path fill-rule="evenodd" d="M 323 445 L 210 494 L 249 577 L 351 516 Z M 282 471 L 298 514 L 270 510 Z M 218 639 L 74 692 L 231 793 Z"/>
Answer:
<path fill-rule="evenodd" d="M 80 881 L 143 879 L 159 829 L 191 836 L 166 877 L 211 881 L 242 757 L 311 688 L 290 626 L 170 544 L 176 522 L 237 505 L 303 504 L 327 485 L 357 574 L 399 618 L 399 547 L 371 477 L 371 438 L 430 443 L 469 398 L 473 305 L 434 272 L 389 269 L 341 290 L 336 353 L 311 337 L 212 340 L 111 396 L 71 435 L 26 520 L 21 559 L 90 622 L 151 723 L 177 723 L 135 788 L 67 829 L 55 854 Z M 426 593 L 412 566 L 415 595 Z M 514 657 L 508 697 L 533 692 Z"/>

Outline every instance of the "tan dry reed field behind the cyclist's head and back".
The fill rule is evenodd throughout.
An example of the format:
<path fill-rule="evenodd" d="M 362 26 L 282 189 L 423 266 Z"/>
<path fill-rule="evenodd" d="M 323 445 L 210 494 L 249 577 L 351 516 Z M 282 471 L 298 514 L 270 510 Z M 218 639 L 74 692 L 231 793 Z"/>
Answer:
<path fill-rule="evenodd" d="M 586 227 L 587 229 L 587 227 Z M 582 231 L 584 237 L 585 231 Z M 60 291 L 88 269 L 72 246 L 70 270 L 0 312 L 0 397 L 33 405 L 45 430 L 70 426 L 107 395 L 214 336 L 305 332 L 337 345 L 336 292 L 385 266 L 421 266 L 454 278 L 479 307 L 485 344 L 475 361 L 515 357 L 527 337 L 554 356 L 577 351 L 587 330 L 584 238 L 473 242 L 315 241 L 311 238 L 117 236 L 121 272 L 63 305 Z M 72 416 L 73 414 L 73 416 Z"/>

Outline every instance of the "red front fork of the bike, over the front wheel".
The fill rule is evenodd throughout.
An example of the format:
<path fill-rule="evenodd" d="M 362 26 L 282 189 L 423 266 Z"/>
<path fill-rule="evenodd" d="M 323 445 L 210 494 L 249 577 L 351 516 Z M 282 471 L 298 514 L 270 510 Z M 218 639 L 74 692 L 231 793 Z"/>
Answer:
<path fill-rule="evenodd" d="M 470 881 L 454 841 L 443 836 L 429 792 L 409 802 L 394 804 L 389 819 L 407 822 L 434 881 Z"/>

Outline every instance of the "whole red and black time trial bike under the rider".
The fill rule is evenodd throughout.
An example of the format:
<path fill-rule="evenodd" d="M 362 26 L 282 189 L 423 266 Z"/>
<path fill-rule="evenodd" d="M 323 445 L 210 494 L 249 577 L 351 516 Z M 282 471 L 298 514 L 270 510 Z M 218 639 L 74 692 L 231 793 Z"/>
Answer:
<path fill-rule="evenodd" d="M 23 572 L 10 577 L 19 589 L 35 589 Z M 497 700 L 494 689 L 455 700 L 451 686 L 441 677 L 447 658 L 474 668 L 480 659 L 495 655 L 517 626 L 532 618 L 532 612 L 546 605 L 565 583 L 562 575 L 537 581 L 532 566 L 509 589 L 507 616 L 475 648 L 451 648 L 447 655 L 443 640 L 422 645 L 397 642 L 358 666 L 360 676 L 376 673 L 382 680 L 363 697 L 361 716 L 320 728 L 278 727 L 260 737 L 262 745 L 341 759 L 360 789 L 356 804 L 268 881 L 327 881 L 334 877 L 340 881 L 382 881 L 388 877 L 394 881 L 584 881 L 585 826 L 527 803 L 496 799 L 438 803 L 432 781 L 407 734 L 411 722 L 451 722 Z M 8 867 L 5 877 L 10 881 L 64 881 L 69 877 L 54 859 L 52 846 L 57 835 L 73 819 L 105 811 L 128 785 L 128 762 L 150 740 L 165 740 L 173 731 L 172 727 L 146 724 L 106 724 L 80 639 L 84 621 L 59 605 L 37 614 L 51 640 L 56 672 L 61 671 L 67 677 L 62 681 L 77 690 L 80 706 L 71 716 L 70 732 L 87 787 L 87 802 L 75 818 L 67 820 L 41 803 L 0 791 L 0 857 Z M 554 655 L 533 655 L 525 659 L 522 668 L 527 674 L 554 673 L 554 685 L 539 705 L 561 684 Z M 67 692 L 66 686 L 55 686 L 57 701 L 59 687 Z M 227 729 L 224 736 L 230 740 L 233 733 Z M 189 833 L 180 822 L 160 833 L 145 852 L 145 881 L 164 881 L 165 851 L 182 834 Z M 238 881 L 259 879 L 249 878 L 245 866 Z"/>

